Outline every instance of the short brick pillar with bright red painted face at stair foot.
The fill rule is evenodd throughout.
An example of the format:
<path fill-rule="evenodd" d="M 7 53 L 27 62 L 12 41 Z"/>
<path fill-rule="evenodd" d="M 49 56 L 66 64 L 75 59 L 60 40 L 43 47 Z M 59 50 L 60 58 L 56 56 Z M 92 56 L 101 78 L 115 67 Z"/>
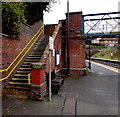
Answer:
<path fill-rule="evenodd" d="M 45 64 L 32 63 L 31 99 L 42 100 L 47 94 Z"/>

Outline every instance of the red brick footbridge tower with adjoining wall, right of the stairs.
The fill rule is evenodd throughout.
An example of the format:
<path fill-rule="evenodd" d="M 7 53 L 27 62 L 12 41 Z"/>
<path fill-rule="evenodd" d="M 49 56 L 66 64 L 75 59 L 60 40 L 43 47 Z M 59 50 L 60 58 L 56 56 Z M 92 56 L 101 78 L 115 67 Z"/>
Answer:
<path fill-rule="evenodd" d="M 51 28 L 50 25 L 47 28 Z M 47 34 L 49 35 L 49 33 Z M 66 74 L 67 14 L 66 19 L 60 20 L 59 24 L 55 26 L 52 37 L 54 38 L 54 51 L 56 55 L 60 55 L 59 60 L 57 60 L 56 55 L 52 56 L 52 70 L 55 69 L 58 73 Z M 60 61 L 59 64 L 56 65 L 56 61 Z M 85 40 L 82 39 L 82 12 L 70 13 L 70 74 L 75 76 L 84 75 L 85 68 Z"/>

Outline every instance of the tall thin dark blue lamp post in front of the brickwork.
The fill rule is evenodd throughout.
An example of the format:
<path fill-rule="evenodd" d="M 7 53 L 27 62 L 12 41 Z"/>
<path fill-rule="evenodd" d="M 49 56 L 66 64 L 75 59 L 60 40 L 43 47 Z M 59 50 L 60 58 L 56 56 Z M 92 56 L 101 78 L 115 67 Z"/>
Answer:
<path fill-rule="evenodd" d="M 70 74 L 70 16 L 69 0 L 67 0 L 67 75 Z"/>

